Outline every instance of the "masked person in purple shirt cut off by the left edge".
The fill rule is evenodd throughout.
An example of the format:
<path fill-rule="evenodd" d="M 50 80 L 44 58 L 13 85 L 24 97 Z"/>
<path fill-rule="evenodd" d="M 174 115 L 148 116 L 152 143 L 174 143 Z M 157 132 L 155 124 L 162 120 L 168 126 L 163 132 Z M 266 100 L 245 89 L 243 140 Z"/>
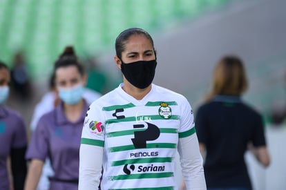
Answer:
<path fill-rule="evenodd" d="M 20 190 L 27 173 L 26 126 L 19 113 L 4 106 L 9 95 L 9 83 L 8 67 L 0 61 L 0 190 Z"/>

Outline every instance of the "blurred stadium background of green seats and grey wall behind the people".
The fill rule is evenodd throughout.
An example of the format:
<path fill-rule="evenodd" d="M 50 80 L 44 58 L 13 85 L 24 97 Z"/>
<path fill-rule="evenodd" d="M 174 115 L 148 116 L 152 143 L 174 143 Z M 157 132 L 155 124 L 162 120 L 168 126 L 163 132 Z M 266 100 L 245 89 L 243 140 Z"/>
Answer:
<path fill-rule="evenodd" d="M 264 118 L 271 166 L 247 155 L 255 189 L 286 189 L 286 1 L 0 0 L 0 59 L 11 70 L 8 106 L 28 126 L 48 91 L 54 61 L 75 47 L 87 87 L 106 93 L 121 82 L 113 66 L 117 34 L 144 28 L 155 40 L 155 84 L 182 93 L 193 108 L 209 90 L 216 61 L 241 57 L 249 79 L 243 99 Z M 196 112 L 195 112 L 196 114 Z"/>

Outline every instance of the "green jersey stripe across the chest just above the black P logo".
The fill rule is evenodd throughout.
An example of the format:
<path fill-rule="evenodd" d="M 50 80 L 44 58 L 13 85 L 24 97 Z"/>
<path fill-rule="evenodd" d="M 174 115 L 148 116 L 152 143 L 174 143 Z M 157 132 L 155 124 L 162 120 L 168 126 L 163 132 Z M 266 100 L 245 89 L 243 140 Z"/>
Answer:
<path fill-rule="evenodd" d="M 106 120 L 106 124 L 119 123 L 119 122 L 135 122 L 140 120 L 140 118 L 148 118 L 149 120 L 166 120 L 163 119 L 160 115 L 144 115 L 137 117 L 125 117 L 124 119 L 110 119 Z M 168 120 L 179 120 L 179 115 L 172 115 Z"/>

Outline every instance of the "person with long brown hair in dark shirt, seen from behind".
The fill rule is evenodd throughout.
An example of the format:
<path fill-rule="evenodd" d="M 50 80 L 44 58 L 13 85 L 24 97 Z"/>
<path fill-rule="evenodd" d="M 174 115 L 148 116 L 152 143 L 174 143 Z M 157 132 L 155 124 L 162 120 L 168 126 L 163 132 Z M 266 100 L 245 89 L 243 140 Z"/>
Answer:
<path fill-rule="evenodd" d="M 260 164 L 269 166 L 263 118 L 242 101 L 246 90 L 241 59 L 222 57 L 214 70 L 211 91 L 195 119 L 208 189 L 252 189 L 244 157 L 248 149 Z"/>

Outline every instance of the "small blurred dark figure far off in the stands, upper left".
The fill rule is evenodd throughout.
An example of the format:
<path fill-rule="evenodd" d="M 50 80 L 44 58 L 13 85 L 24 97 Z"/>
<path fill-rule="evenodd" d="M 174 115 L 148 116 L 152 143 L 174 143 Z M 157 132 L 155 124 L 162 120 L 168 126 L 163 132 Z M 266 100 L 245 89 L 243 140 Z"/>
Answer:
<path fill-rule="evenodd" d="M 31 98 L 31 82 L 23 52 L 15 53 L 11 68 L 11 87 L 15 97 L 21 100 Z"/>

